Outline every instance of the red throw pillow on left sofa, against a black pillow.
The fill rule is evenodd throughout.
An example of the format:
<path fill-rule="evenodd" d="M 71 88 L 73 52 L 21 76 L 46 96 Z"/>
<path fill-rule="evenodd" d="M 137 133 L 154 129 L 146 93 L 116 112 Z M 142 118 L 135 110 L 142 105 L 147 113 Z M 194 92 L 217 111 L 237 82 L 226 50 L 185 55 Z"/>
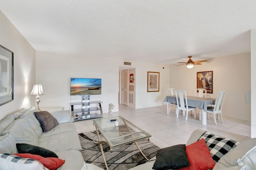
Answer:
<path fill-rule="evenodd" d="M 20 153 L 15 155 L 20 156 L 22 158 L 31 158 L 31 159 L 38 160 L 41 164 L 43 164 L 49 170 L 56 170 L 60 166 L 62 166 L 65 162 L 65 160 L 62 160 L 59 158 L 53 158 L 53 157 L 44 158 L 40 155 L 30 154 L 30 153 Z"/>

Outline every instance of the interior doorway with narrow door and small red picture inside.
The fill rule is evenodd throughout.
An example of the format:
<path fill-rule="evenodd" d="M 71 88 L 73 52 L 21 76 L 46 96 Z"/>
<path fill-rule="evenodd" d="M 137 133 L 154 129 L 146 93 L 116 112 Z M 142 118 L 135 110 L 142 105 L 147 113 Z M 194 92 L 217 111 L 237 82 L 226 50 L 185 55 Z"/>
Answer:
<path fill-rule="evenodd" d="M 119 104 L 136 108 L 135 68 L 119 67 Z"/>

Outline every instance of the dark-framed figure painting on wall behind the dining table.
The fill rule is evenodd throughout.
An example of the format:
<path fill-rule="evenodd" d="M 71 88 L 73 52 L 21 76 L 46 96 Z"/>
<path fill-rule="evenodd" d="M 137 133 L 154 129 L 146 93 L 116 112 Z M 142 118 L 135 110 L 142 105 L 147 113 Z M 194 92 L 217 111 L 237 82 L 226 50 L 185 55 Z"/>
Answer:
<path fill-rule="evenodd" d="M 213 71 L 196 72 L 196 87 L 213 93 Z"/>

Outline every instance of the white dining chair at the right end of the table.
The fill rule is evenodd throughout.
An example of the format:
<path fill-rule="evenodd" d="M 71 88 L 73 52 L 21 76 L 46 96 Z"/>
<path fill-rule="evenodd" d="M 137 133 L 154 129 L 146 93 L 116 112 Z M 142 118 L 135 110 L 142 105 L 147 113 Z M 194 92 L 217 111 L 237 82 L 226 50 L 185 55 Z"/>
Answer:
<path fill-rule="evenodd" d="M 207 105 L 206 113 L 208 114 L 208 119 L 209 119 L 209 113 L 212 113 L 215 125 L 217 125 L 216 115 L 217 116 L 220 115 L 221 122 L 223 123 L 222 107 L 223 107 L 223 102 L 224 102 L 225 95 L 226 95 L 225 91 L 218 92 L 215 103 Z M 217 117 L 217 119 L 218 119 L 218 117 Z"/>

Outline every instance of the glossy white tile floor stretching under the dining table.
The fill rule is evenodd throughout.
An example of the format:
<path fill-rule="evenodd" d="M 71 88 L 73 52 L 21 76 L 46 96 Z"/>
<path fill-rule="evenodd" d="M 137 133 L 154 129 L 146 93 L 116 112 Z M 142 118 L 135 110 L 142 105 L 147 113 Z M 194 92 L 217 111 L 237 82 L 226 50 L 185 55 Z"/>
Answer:
<path fill-rule="evenodd" d="M 197 119 L 194 119 L 194 113 L 192 115 L 189 113 L 188 120 L 186 121 L 182 112 L 176 118 L 175 108 L 173 106 L 169 115 L 167 115 L 166 109 L 166 106 L 132 109 L 124 105 L 119 105 L 118 112 L 104 113 L 103 117 L 120 115 L 126 118 L 128 121 L 150 133 L 152 135 L 150 141 L 160 148 L 186 144 L 190 134 L 195 129 L 204 129 L 236 141 L 250 139 L 251 126 L 248 121 L 223 117 L 224 123 L 217 121 L 218 125 L 215 125 L 212 115 L 210 115 L 210 119 L 207 119 L 207 125 L 202 125 L 199 120 L 199 111 L 197 111 Z M 75 124 L 78 133 L 95 131 L 92 119 L 76 121 Z"/>

